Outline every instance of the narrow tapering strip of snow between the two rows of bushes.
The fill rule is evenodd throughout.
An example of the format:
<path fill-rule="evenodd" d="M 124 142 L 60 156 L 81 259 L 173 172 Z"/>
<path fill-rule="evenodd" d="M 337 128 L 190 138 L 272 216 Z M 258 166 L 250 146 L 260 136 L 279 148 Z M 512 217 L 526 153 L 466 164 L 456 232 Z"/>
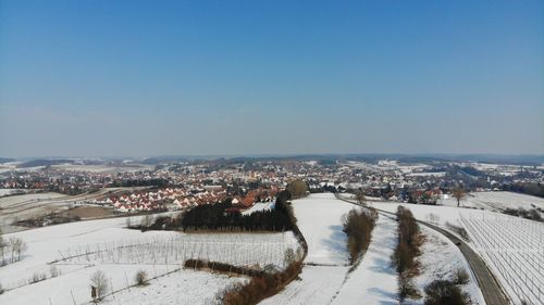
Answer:
<path fill-rule="evenodd" d="M 398 304 L 397 274 L 391 262 L 396 228 L 395 220 L 380 215 L 367 253 L 332 304 L 361 304 L 361 300 L 364 304 Z"/>

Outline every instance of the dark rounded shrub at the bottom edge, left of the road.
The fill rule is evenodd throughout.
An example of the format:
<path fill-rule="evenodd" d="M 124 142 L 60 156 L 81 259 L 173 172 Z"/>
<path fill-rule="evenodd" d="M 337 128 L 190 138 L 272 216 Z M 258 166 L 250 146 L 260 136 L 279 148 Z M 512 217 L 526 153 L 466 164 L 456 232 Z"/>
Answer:
<path fill-rule="evenodd" d="M 470 304 L 468 294 L 454 282 L 447 280 L 435 280 L 425 287 L 424 305 L 467 305 Z"/>

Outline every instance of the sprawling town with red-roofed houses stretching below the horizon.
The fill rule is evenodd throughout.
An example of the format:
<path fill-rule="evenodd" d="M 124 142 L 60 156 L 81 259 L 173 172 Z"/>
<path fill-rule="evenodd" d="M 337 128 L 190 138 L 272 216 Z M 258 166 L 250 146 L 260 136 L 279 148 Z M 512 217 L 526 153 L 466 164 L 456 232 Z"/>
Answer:
<path fill-rule="evenodd" d="M 120 212 L 141 212 L 184 209 L 226 199 L 245 209 L 256 202 L 273 200 L 293 179 L 306 181 L 312 192 L 362 190 L 369 198 L 426 204 L 447 195 L 455 186 L 478 191 L 516 181 L 544 182 L 542 166 L 395 160 L 240 158 L 92 166 L 4 170 L 0 171 L 0 186 L 70 194 L 140 187 L 89 203 L 111 205 Z"/>

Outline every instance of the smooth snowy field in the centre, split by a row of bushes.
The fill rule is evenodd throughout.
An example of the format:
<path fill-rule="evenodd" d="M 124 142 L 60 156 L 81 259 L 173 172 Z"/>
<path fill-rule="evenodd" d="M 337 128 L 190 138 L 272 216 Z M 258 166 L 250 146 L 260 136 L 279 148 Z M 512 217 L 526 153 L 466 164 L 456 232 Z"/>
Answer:
<path fill-rule="evenodd" d="M 346 234 L 342 216 L 355 205 L 333 194 L 311 194 L 293 202 L 298 226 L 308 242 L 307 264 L 300 281 L 262 304 L 396 304 L 396 274 L 391 268 L 395 221 L 382 217 L 369 252 L 348 274 Z M 347 277 L 347 278 L 346 278 Z"/>

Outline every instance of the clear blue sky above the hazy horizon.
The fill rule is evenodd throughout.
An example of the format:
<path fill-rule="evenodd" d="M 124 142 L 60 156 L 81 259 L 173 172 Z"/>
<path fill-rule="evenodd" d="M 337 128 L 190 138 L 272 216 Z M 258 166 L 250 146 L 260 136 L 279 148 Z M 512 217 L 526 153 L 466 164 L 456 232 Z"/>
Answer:
<path fill-rule="evenodd" d="M 544 1 L 0 0 L 0 155 L 544 153 Z"/>

